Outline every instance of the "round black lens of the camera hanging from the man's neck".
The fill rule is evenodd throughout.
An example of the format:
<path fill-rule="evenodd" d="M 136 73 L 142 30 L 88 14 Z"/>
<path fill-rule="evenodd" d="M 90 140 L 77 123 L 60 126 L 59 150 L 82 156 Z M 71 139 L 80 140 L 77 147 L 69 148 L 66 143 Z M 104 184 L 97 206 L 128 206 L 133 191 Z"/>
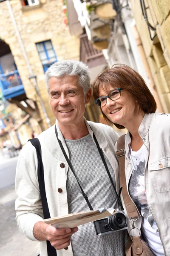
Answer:
<path fill-rule="evenodd" d="M 113 230 L 119 230 L 126 227 L 126 217 L 123 213 L 117 212 L 109 219 L 109 225 Z"/>

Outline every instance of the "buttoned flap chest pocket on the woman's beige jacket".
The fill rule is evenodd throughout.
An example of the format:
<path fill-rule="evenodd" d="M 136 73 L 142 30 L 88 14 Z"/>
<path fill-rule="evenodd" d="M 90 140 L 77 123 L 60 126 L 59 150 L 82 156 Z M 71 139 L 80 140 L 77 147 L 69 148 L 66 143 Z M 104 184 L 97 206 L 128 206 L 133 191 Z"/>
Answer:
<path fill-rule="evenodd" d="M 152 172 L 151 180 L 156 192 L 170 191 L 170 157 L 150 163 L 148 170 Z"/>

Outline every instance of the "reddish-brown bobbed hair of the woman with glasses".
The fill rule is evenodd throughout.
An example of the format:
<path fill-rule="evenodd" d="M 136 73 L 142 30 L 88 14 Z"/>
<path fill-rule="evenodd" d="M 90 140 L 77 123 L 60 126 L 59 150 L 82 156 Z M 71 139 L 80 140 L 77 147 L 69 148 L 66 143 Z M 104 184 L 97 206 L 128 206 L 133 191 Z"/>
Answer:
<path fill-rule="evenodd" d="M 139 75 L 131 67 L 124 64 L 115 64 L 111 69 L 106 69 L 94 79 L 93 82 L 93 97 L 94 100 L 99 98 L 99 87 L 101 86 L 107 94 L 108 85 L 113 88 L 122 88 L 128 90 L 134 99 L 137 100 L 139 104 L 139 111 L 144 111 L 144 113 L 155 113 L 156 111 L 156 101 L 153 98 L 152 93 L 148 89 L 144 82 L 142 76 Z M 102 110 L 102 108 L 101 108 Z M 112 125 L 110 119 L 102 112 L 104 119 L 109 125 Z M 117 128 L 125 128 L 123 125 L 114 124 Z"/>

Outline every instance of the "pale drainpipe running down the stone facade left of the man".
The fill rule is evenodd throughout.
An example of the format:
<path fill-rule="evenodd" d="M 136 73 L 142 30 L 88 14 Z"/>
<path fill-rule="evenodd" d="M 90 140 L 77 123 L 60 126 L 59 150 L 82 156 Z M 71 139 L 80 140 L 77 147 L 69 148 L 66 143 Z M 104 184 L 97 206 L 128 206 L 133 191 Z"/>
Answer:
<path fill-rule="evenodd" d="M 41 99 L 41 96 L 40 96 L 40 91 L 38 89 L 38 85 L 37 85 L 37 81 L 36 81 L 36 76 L 34 75 L 33 71 L 32 71 L 32 68 L 31 68 L 31 65 L 28 61 L 28 57 L 27 57 L 27 54 L 26 54 L 26 50 L 24 48 L 24 45 L 23 45 L 23 41 L 21 39 L 21 36 L 20 36 L 20 32 L 18 30 L 18 27 L 17 27 L 17 23 L 16 23 L 16 20 L 15 20 L 15 17 L 14 17 L 14 14 L 12 12 L 12 8 L 11 8 L 11 5 L 9 3 L 9 0 L 6 0 L 6 4 L 8 6 L 8 10 L 9 10 L 9 13 L 10 13 L 10 16 L 11 16 L 11 19 L 12 19 L 12 22 L 14 24 L 14 28 L 15 28 L 15 32 L 17 34 L 17 38 L 18 38 L 18 41 L 19 41 L 19 44 L 20 44 L 20 47 L 22 49 L 22 52 L 23 52 L 23 55 L 24 55 L 24 58 L 25 58 L 25 61 L 26 61 L 26 64 L 27 64 L 27 67 L 28 67 L 28 70 L 29 70 L 29 73 L 30 73 L 30 76 L 29 76 L 29 79 L 32 79 L 33 83 L 34 83 L 34 87 L 35 87 L 35 90 L 37 92 L 37 95 L 39 96 L 39 99 L 40 99 L 40 104 L 41 104 L 41 108 L 42 108 L 42 112 L 44 114 L 44 117 L 45 117 L 45 121 L 48 125 L 48 128 L 51 127 L 51 123 L 50 123 L 50 119 L 48 118 L 47 116 L 47 113 L 46 113 L 46 110 L 45 110 L 45 107 L 44 107 L 44 104 L 42 102 L 42 99 Z"/>

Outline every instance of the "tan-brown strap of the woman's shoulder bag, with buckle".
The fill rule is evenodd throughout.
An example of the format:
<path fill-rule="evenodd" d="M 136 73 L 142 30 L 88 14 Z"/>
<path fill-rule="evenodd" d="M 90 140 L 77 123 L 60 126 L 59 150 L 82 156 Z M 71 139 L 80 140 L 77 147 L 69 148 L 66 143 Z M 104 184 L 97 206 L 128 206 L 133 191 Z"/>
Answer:
<path fill-rule="evenodd" d="M 122 196 L 125 203 L 125 207 L 127 210 L 127 214 L 130 218 L 130 221 L 133 221 L 132 227 L 134 228 L 134 221 L 139 219 L 139 214 L 136 210 L 133 201 L 131 200 L 126 186 L 126 176 L 125 176 L 125 134 L 119 137 L 117 140 L 117 151 L 116 157 L 118 158 L 119 162 L 119 180 L 120 180 L 120 187 L 122 187 Z"/>

